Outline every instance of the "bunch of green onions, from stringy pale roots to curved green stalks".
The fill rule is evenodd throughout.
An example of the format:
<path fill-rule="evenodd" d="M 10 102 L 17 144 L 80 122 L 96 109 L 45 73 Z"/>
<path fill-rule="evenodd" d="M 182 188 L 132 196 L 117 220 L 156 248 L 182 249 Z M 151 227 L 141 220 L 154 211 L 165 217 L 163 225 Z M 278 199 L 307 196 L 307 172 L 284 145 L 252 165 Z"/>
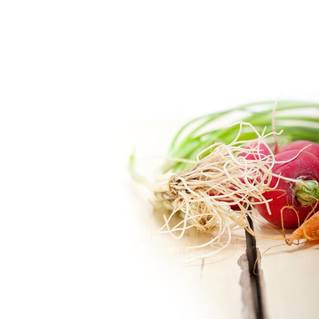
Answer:
<path fill-rule="evenodd" d="M 225 119 L 232 123 L 226 121 L 221 127 Z M 267 205 L 263 194 L 275 189 L 271 180 L 276 149 L 294 140 L 319 142 L 319 104 L 250 103 L 183 125 L 170 144 L 163 174 L 154 182 L 137 174 L 134 156 L 130 171 L 169 210 L 160 231 L 176 238 L 193 227 L 209 233 L 207 243 L 195 246 L 212 249 L 200 256 L 208 257 L 228 246 L 233 231 L 253 232 L 249 219 L 254 219 L 254 205 Z M 260 152 L 261 143 L 268 155 Z M 304 201 L 313 189 L 313 185 L 306 186 L 298 190 Z"/>

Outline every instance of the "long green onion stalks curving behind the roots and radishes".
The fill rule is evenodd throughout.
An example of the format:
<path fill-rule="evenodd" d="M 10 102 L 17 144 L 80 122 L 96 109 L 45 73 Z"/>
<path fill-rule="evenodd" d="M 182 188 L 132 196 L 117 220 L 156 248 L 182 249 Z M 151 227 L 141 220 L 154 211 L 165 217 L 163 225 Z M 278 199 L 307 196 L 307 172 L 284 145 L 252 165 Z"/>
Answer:
<path fill-rule="evenodd" d="M 260 133 L 265 126 L 265 134 L 272 132 L 274 104 L 274 101 L 250 103 L 192 119 L 177 132 L 169 147 L 168 156 L 194 160 L 199 152 L 215 142 L 231 143 L 237 135 L 239 125 L 220 128 L 219 123 L 224 116 L 234 118 L 233 122 L 249 122 Z M 283 130 L 282 136 L 278 137 L 279 144 L 295 140 L 319 143 L 319 104 L 302 101 L 278 101 L 275 125 L 276 131 Z M 239 141 L 256 138 L 254 132 L 243 131 Z M 163 172 L 179 172 L 188 166 L 189 164 L 179 161 L 167 161 L 162 170 Z"/>

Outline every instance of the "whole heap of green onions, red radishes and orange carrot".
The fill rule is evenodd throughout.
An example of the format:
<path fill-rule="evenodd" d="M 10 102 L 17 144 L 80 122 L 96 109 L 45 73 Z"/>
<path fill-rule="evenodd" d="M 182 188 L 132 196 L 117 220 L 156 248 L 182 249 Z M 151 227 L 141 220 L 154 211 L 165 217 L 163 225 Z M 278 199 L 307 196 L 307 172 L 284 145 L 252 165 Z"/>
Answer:
<path fill-rule="evenodd" d="M 235 123 L 220 127 L 230 120 Z M 188 122 L 171 143 L 163 175 L 148 184 L 170 210 L 161 231 L 177 238 L 192 227 L 209 232 L 211 240 L 200 247 L 216 248 L 213 254 L 230 243 L 233 230 L 253 233 L 248 219 L 258 219 L 259 211 L 283 229 L 299 227 L 285 238 L 288 244 L 317 239 L 317 214 L 310 218 L 319 198 L 316 142 L 315 103 L 279 101 L 274 108 L 274 101 L 266 101 Z M 176 216 L 180 220 L 171 225 Z"/>

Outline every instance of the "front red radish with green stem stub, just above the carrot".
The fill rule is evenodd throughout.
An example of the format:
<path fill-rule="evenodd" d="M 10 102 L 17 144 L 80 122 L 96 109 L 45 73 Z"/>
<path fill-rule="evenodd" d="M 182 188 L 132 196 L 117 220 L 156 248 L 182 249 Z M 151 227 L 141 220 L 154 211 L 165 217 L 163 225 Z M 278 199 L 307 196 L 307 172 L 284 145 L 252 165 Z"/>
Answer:
<path fill-rule="evenodd" d="M 298 150 L 285 151 L 277 154 L 275 158 L 276 161 L 289 161 L 298 152 Z M 278 175 L 281 174 L 283 177 L 300 179 L 306 185 L 302 182 L 295 183 L 282 178 L 278 182 L 278 177 L 273 177 L 270 187 L 276 187 L 276 183 L 278 182 L 276 190 L 263 193 L 266 200 L 272 199 L 268 203 L 272 214 L 269 215 L 265 203 L 256 204 L 256 208 L 262 217 L 277 226 L 281 226 L 282 210 L 284 227 L 298 227 L 315 206 L 317 202 L 315 198 L 319 197 L 319 158 L 309 152 L 302 151 L 290 162 L 275 164 L 272 172 Z M 312 198 L 309 196 L 312 196 Z M 299 224 L 294 209 L 298 212 Z"/>

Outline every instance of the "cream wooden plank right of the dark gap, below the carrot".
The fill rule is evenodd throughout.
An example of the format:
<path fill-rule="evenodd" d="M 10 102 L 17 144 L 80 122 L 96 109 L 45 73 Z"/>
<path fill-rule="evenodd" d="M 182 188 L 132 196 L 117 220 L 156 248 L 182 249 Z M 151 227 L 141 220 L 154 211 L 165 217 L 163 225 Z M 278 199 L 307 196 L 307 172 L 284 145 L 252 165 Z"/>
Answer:
<path fill-rule="evenodd" d="M 257 233 L 278 237 L 269 227 L 261 224 L 259 226 L 261 228 L 256 229 Z M 291 230 L 285 232 L 289 236 Z M 298 246 L 287 246 L 281 241 L 258 237 L 256 241 L 261 253 L 267 317 L 317 317 L 319 241 Z"/>

